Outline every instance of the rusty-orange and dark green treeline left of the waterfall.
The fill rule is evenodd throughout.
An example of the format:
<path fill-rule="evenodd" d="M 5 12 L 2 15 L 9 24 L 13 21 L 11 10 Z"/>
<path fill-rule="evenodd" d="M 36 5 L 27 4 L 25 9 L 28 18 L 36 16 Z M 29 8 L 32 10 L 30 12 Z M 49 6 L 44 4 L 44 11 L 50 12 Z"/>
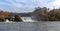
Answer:
<path fill-rule="evenodd" d="M 5 22 L 6 19 L 13 22 L 22 22 L 22 19 L 17 13 L 13 14 L 9 12 L 0 11 L 0 22 Z"/>

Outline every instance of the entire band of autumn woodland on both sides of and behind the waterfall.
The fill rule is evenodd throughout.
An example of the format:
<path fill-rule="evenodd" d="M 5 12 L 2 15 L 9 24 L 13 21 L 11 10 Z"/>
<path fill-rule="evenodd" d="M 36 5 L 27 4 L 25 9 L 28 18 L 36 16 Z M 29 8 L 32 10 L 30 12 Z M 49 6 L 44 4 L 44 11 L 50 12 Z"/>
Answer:
<path fill-rule="evenodd" d="M 29 13 L 11 13 L 0 11 L 0 22 L 8 19 L 9 21 L 22 22 L 21 17 L 33 16 L 36 21 L 60 21 L 60 8 L 49 9 L 47 7 L 37 7 Z M 14 18 L 13 18 L 14 17 Z"/>

